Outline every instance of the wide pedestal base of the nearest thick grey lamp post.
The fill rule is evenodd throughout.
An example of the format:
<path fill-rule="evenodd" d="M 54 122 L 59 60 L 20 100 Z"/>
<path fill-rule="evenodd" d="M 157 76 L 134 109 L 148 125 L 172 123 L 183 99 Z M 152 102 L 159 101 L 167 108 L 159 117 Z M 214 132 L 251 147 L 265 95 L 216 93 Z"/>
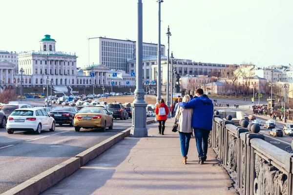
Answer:
<path fill-rule="evenodd" d="M 130 137 L 147 137 L 146 105 L 146 102 L 131 103 L 132 127 L 130 130 Z"/>

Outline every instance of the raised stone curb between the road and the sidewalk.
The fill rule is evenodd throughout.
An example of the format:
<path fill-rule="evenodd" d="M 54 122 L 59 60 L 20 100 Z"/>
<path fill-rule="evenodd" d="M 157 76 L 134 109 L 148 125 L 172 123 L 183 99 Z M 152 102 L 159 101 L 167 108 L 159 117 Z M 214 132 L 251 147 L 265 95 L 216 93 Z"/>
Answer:
<path fill-rule="evenodd" d="M 146 121 L 146 124 L 151 124 L 153 120 Z M 101 143 L 90 147 L 84 152 L 69 158 L 68 160 L 42 172 L 41 174 L 34 176 L 27 181 L 24 181 L 20 185 L 4 192 L 1 195 L 39 195 L 46 189 L 52 187 L 62 179 L 70 176 L 75 171 L 80 169 L 88 161 L 94 159 L 100 154 L 104 153 L 111 146 L 115 145 L 125 137 L 130 135 L 130 128 L 112 136 Z"/>

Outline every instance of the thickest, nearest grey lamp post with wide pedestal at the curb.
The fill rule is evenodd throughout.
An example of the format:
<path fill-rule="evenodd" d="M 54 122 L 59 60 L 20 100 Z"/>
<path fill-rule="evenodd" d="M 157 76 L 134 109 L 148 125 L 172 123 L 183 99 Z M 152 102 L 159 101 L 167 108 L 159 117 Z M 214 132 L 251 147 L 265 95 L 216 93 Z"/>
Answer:
<path fill-rule="evenodd" d="M 137 3 L 137 41 L 136 41 L 136 89 L 132 107 L 131 137 L 147 137 L 146 129 L 146 102 L 143 86 L 143 3 Z M 160 47 L 158 45 L 158 47 Z"/>

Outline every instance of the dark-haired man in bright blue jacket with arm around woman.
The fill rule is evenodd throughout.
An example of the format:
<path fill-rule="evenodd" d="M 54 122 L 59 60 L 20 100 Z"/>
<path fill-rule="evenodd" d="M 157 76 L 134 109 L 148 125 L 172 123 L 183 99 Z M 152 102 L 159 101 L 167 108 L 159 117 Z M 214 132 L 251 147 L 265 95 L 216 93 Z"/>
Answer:
<path fill-rule="evenodd" d="M 188 102 L 179 102 L 183 108 L 193 108 L 192 127 L 196 140 L 199 164 L 204 164 L 208 153 L 209 131 L 212 128 L 213 104 L 202 89 L 195 91 L 197 97 Z"/>

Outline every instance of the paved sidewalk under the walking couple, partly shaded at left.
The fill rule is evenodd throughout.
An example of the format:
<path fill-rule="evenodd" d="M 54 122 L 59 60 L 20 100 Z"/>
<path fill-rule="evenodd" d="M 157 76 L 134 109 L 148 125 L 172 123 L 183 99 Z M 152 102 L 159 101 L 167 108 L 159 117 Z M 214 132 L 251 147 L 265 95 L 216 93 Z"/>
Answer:
<path fill-rule="evenodd" d="M 42 195 L 235 195 L 212 148 L 206 163 L 198 164 L 194 137 L 188 164 L 182 164 L 173 120 L 167 120 L 164 136 L 158 123 L 148 125 L 148 137 L 126 137 Z"/>

